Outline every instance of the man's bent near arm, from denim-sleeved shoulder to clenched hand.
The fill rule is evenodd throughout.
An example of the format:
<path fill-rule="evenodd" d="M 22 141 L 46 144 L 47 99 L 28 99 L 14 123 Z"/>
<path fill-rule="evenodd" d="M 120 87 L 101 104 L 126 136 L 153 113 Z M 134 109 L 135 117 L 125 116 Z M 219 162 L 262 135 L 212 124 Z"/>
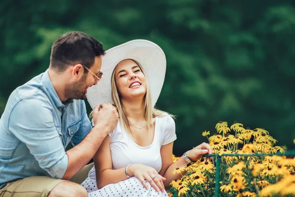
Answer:
<path fill-rule="evenodd" d="M 56 129 L 52 109 L 39 99 L 23 99 L 12 110 L 9 130 L 28 147 L 40 167 L 53 178 L 69 179 L 89 162 L 103 138 L 113 131 L 118 122 L 116 109 L 104 104 L 98 112 L 94 108 L 96 124 L 85 139 L 65 153 Z"/>

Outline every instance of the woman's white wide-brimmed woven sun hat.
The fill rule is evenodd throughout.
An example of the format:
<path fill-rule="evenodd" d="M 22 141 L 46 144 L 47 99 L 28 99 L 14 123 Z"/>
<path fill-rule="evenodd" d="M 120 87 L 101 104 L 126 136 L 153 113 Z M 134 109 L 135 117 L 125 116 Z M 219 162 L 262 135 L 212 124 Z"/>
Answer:
<path fill-rule="evenodd" d="M 112 74 L 116 66 L 126 59 L 135 60 L 143 67 L 150 89 L 151 104 L 154 107 L 165 79 L 166 57 L 163 50 L 155 43 L 136 39 L 107 50 L 102 57 L 103 77 L 87 90 L 87 99 L 92 109 L 104 102 L 114 104 L 111 87 Z"/>

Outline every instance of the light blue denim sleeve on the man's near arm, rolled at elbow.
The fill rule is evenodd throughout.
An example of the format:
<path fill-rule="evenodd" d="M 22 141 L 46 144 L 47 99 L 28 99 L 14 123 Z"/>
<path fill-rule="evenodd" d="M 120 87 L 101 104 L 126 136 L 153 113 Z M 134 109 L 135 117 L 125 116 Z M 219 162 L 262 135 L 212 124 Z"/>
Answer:
<path fill-rule="evenodd" d="M 39 99 L 21 100 L 10 114 L 8 129 L 26 144 L 42 169 L 53 178 L 63 177 L 68 157 L 49 103 Z"/>

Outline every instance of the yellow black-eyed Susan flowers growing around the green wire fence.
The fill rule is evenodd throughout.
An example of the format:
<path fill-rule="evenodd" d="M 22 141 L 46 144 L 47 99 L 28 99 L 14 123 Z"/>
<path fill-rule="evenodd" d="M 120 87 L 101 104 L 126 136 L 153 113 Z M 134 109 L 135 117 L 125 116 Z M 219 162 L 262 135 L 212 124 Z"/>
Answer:
<path fill-rule="evenodd" d="M 259 156 L 264 153 L 284 153 L 285 147 L 262 128 L 244 128 L 240 123 L 228 127 L 227 122 L 216 124 L 216 134 L 204 131 L 213 153 L 236 154 L 222 156 L 220 192 L 226 197 L 295 196 L 295 158 Z M 295 141 L 294 141 L 295 142 Z M 253 156 L 239 156 L 247 154 Z M 257 154 L 257 155 L 255 155 Z M 185 168 L 177 168 L 182 178 L 170 184 L 178 197 L 214 196 L 215 158 L 201 159 Z M 177 159 L 174 157 L 174 161 Z M 172 195 L 172 194 L 170 194 Z"/>

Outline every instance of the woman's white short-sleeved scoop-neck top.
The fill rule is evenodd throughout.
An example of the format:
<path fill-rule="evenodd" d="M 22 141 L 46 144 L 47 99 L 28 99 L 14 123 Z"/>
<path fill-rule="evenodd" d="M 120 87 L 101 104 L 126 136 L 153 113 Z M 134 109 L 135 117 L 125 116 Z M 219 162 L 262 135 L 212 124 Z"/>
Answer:
<path fill-rule="evenodd" d="M 157 172 L 161 170 L 161 146 L 176 140 L 175 122 L 170 116 L 155 118 L 154 139 L 149 146 L 142 147 L 135 143 L 130 135 L 121 128 L 118 121 L 117 128 L 109 133 L 113 169 L 119 169 L 128 164 L 145 164 L 153 167 Z"/>

